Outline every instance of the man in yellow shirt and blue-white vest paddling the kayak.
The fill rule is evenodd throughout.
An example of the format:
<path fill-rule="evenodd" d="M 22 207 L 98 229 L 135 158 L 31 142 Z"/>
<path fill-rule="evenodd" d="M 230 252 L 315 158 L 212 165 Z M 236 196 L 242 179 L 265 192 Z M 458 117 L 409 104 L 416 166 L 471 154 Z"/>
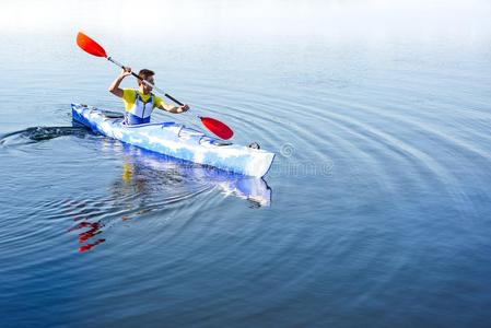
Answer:
<path fill-rule="evenodd" d="M 143 69 L 138 73 L 138 77 L 153 84 L 154 74 L 153 71 Z M 131 75 L 131 69 L 129 67 L 125 68 L 109 86 L 109 92 L 122 98 L 125 102 L 125 120 L 127 125 L 142 125 L 150 122 L 150 116 L 155 107 L 176 114 L 189 109 L 188 105 L 173 106 L 165 104 L 160 96 L 154 95 L 151 92 L 152 86 L 147 85 L 141 80 L 138 80 L 138 90 L 120 89 L 119 84 L 122 79 L 128 75 Z"/>

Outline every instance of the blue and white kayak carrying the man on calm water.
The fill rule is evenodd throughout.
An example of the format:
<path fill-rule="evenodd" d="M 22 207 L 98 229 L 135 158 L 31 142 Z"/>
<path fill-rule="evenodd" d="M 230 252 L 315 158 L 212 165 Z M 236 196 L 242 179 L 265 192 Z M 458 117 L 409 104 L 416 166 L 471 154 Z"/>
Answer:
<path fill-rule="evenodd" d="M 94 132 L 152 152 L 254 177 L 271 167 L 274 153 L 226 142 L 182 124 L 126 125 L 120 113 L 71 104 L 73 120 Z"/>

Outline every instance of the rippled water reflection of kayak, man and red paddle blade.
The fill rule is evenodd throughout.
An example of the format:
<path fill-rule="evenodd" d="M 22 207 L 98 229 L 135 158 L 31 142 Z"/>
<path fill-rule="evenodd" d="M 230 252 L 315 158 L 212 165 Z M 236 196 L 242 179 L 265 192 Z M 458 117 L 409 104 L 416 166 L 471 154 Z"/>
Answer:
<path fill-rule="evenodd" d="M 271 188 L 261 178 L 176 160 L 108 138 L 97 139 L 96 147 L 104 152 L 102 156 L 120 156 L 122 165 L 105 199 L 100 198 L 95 203 L 85 200 L 77 204 L 78 211 L 71 211 L 78 223 L 69 232 L 79 231 L 81 253 L 104 243 L 114 224 L 150 214 L 156 214 L 152 219 L 159 220 L 169 215 L 191 216 L 199 207 L 186 207 L 184 201 L 201 194 L 208 196 L 197 201 L 221 195 L 219 201 L 232 196 L 247 200 L 250 208 L 271 204 Z"/>

